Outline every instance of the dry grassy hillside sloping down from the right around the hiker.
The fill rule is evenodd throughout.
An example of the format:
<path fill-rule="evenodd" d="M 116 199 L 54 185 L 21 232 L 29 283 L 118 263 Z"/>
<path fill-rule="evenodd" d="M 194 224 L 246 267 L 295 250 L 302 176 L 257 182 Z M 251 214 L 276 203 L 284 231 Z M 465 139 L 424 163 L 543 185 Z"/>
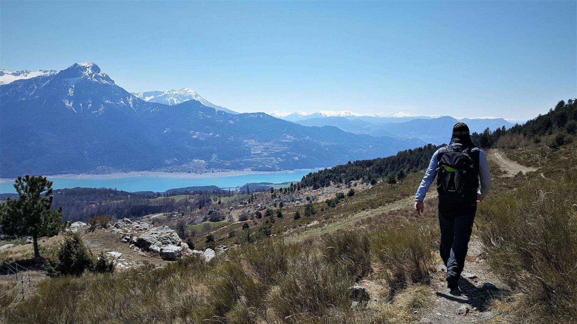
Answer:
<path fill-rule="evenodd" d="M 558 105 L 534 123 L 541 125 L 542 118 L 574 105 L 572 100 Z M 187 258 L 162 262 L 159 268 L 147 265 L 147 260 L 158 260 L 148 255 L 142 257 L 142 266 L 124 272 L 39 280 L 36 291 L 16 306 L 10 302 L 17 295 L 1 284 L 0 296 L 8 295 L 0 298 L 6 308 L 0 321 L 414 323 L 434 317 L 442 323 L 444 318 L 472 323 L 490 311 L 492 317 L 484 322 L 574 323 L 577 143 L 546 145 L 557 134 L 565 138 L 567 128 L 559 125 L 543 134 L 531 133 L 539 127 L 518 126 L 491 145 L 519 134 L 542 139 L 499 148 L 510 159 L 536 168 L 534 172 L 508 174 L 499 160 L 490 160 L 493 187 L 478 206 L 466 265 L 481 278 L 462 279 L 469 288 L 466 297 L 443 291 L 434 190 L 424 214 L 418 216 L 411 208 L 422 171 L 409 172 L 402 184 L 392 186 L 381 179 L 398 172 L 396 167 L 410 171 L 407 165 L 417 168 L 428 162 L 434 150 L 428 146 L 410 151 L 421 152 L 413 157 L 401 152 L 391 159 L 355 161 L 308 175 L 300 189 L 246 195 L 206 207 L 230 215 L 214 223 L 220 227 L 190 238 L 197 248 L 205 247 L 207 235 L 215 239 L 213 244 L 230 247 L 210 262 Z M 249 219 L 238 221 L 241 213 Z M 102 233 L 108 232 L 92 234 L 95 242 Z M 0 251 L 0 259 L 31 255 L 29 246 L 18 249 L 21 254 Z M 485 281 L 495 288 L 484 290 Z M 349 287 L 355 284 L 367 289 L 368 302 L 358 302 L 351 294 Z M 455 315 L 463 304 L 470 306 L 467 317 Z"/>

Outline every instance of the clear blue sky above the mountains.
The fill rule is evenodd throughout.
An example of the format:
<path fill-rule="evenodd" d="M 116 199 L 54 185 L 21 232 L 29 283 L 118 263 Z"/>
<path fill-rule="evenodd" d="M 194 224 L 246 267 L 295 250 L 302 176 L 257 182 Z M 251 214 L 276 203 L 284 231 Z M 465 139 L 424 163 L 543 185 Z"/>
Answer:
<path fill-rule="evenodd" d="M 575 1 L 0 2 L 0 66 L 92 61 L 239 112 L 528 119 L 577 96 Z"/>

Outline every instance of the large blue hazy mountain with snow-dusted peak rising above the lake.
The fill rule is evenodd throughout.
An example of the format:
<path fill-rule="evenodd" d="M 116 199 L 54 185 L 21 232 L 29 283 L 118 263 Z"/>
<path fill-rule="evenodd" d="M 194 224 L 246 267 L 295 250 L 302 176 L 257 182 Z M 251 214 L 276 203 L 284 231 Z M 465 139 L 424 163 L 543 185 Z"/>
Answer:
<path fill-rule="evenodd" d="M 0 85 L 0 177 L 102 168 L 198 172 L 327 167 L 420 146 L 306 127 L 197 100 L 144 101 L 94 63 Z"/>

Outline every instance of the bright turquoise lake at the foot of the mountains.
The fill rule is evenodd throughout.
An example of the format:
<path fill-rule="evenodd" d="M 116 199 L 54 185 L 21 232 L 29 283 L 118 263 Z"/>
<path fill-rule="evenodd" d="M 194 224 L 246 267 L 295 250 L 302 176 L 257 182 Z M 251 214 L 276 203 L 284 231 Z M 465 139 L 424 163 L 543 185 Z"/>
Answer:
<path fill-rule="evenodd" d="M 54 182 L 53 189 L 65 189 L 74 187 L 88 188 L 113 188 L 125 191 L 155 191 L 163 192 L 168 189 L 191 187 L 191 186 L 218 186 L 235 187 L 251 182 L 289 182 L 298 181 L 302 176 L 313 171 L 295 171 L 279 174 L 249 174 L 221 176 L 215 178 L 170 178 L 156 176 L 134 176 L 117 179 L 62 179 L 47 178 Z M 13 182 L 0 183 L 0 193 L 16 193 Z"/>

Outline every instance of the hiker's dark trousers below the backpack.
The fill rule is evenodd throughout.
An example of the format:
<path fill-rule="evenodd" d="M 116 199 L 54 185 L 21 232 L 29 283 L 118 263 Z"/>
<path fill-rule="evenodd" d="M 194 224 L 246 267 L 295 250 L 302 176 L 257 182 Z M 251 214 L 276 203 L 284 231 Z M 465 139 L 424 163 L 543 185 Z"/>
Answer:
<path fill-rule="evenodd" d="M 447 277 L 459 277 L 463 272 L 477 202 L 439 201 L 441 259 L 447 266 Z"/>

